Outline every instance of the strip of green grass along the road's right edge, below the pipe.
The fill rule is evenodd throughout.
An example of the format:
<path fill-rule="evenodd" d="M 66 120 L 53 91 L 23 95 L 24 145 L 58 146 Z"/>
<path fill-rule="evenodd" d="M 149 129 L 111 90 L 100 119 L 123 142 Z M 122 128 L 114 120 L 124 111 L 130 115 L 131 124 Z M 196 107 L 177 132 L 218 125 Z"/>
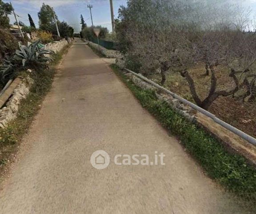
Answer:
<path fill-rule="evenodd" d="M 233 154 L 203 128 L 176 113 L 155 92 L 135 86 L 116 65 L 112 70 L 131 89 L 141 105 L 154 115 L 172 134 L 180 136 L 187 151 L 200 163 L 205 174 L 226 190 L 249 201 L 256 201 L 256 169 L 241 155 Z"/>

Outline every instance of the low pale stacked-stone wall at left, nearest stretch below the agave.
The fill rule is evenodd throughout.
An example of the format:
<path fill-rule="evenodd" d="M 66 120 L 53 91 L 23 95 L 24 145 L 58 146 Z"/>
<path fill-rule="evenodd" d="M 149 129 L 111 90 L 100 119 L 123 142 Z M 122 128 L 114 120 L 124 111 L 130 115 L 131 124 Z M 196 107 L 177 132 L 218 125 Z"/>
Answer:
<path fill-rule="evenodd" d="M 6 106 L 0 109 L 0 128 L 6 128 L 8 122 L 16 118 L 20 101 L 28 96 L 29 89 L 33 83 L 32 78 L 27 76 L 13 90 L 12 97 L 8 100 Z"/>

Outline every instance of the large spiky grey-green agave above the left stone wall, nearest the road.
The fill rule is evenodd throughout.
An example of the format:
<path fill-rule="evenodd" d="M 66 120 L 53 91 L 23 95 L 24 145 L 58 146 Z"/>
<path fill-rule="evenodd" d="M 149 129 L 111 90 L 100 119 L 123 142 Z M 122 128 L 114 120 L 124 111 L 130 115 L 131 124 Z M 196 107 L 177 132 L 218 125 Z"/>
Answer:
<path fill-rule="evenodd" d="M 48 66 L 48 62 L 52 60 L 47 55 L 53 54 L 52 51 L 41 50 L 38 45 L 40 40 L 34 43 L 28 43 L 28 46 L 20 45 L 20 50 L 16 50 L 14 60 L 22 62 L 22 66 Z"/>

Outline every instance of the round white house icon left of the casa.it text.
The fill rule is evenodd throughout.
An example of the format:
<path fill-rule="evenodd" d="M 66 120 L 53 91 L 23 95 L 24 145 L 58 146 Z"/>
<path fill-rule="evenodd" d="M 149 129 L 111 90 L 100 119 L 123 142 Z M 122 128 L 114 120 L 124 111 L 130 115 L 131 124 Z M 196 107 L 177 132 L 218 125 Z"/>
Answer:
<path fill-rule="evenodd" d="M 109 155 L 103 150 L 97 150 L 91 155 L 91 164 L 96 169 L 104 169 L 108 167 L 109 162 Z"/>

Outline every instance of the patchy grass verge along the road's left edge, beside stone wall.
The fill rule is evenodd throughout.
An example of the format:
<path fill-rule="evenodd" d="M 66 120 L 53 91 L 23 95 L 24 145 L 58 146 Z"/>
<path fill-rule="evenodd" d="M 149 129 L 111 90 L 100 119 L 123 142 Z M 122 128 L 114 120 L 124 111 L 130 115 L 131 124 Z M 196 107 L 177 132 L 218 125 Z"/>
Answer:
<path fill-rule="evenodd" d="M 40 104 L 52 87 L 56 65 L 70 46 L 68 44 L 62 51 L 54 54 L 49 70 L 31 73 L 30 77 L 33 78 L 34 84 L 28 97 L 21 101 L 16 119 L 11 121 L 7 128 L 0 129 L 0 180 L 3 179 L 6 164 L 12 160 L 12 156 L 15 156 L 22 137 L 28 132 L 34 116 L 40 109 Z"/>

